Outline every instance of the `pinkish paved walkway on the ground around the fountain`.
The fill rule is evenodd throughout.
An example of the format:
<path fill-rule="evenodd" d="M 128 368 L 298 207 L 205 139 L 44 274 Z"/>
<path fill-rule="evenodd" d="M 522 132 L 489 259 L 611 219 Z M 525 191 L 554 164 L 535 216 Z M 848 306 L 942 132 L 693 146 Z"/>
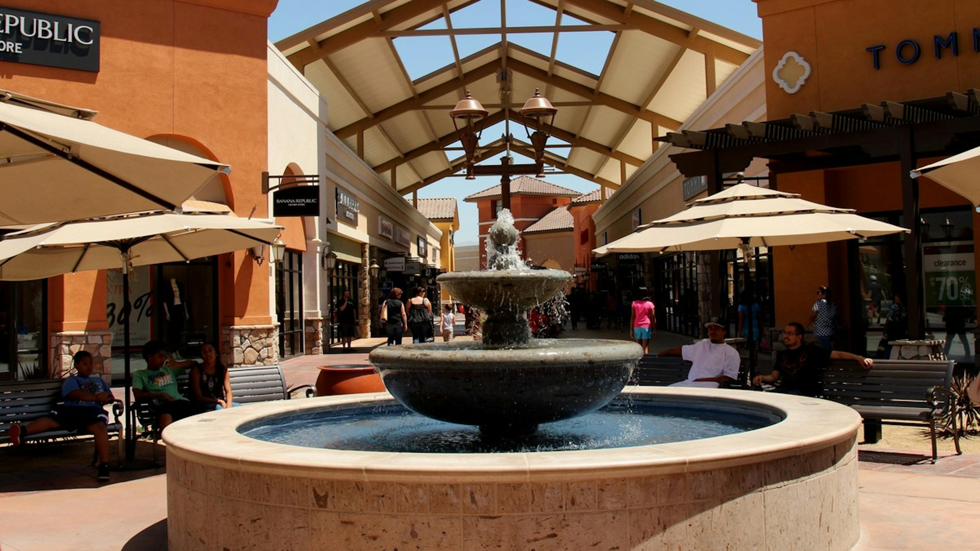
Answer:
<path fill-rule="evenodd" d="M 625 338 L 614 330 L 568 330 L 564 336 Z M 652 352 L 690 342 L 661 333 Z M 312 384 L 317 366 L 366 363 L 384 339 L 282 363 L 290 384 Z M 140 442 L 138 457 L 149 457 Z M 160 457 L 164 457 L 161 451 Z M 942 457 L 924 450 L 859 452 L 859 551 L 973 549 L 980 526 L 980 455 Z M 0 551 L 167 548 L 166 469 L 113 473 L 108 484 L 86 467 L 91 442 L 0 447 Z"/>

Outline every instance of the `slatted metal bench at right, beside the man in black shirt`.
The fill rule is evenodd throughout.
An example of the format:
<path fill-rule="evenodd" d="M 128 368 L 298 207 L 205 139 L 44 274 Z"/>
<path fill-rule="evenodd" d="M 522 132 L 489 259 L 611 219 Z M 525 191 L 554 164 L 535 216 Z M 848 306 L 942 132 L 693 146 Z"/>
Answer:
<path fill-rule="evenodd" d="M 819 397 L 854 408 L 865 422 L 928 426 L 936 463 L 936 420 L 949 410 L 953 361 L 876 360 L 871 370 L 855 362 L 834 361 L 820 371 Z M 956 453 L 959 435 L 954 432 Z"/>

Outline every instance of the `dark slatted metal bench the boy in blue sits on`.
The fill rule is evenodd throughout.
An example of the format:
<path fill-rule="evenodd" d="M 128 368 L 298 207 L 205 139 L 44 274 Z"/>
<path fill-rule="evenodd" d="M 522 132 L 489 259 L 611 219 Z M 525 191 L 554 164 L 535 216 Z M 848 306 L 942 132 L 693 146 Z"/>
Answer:
<path fill-rule="evenodd" d="M 55 405 L 63 401 L 62 385 L 65 379 L 45 378 L 33 380 L 16 380 L 0 384 L 0 443 L 10 441 L 9 429 L 14 423 L 24 426 L 30 422 L 47 416 Z M 123 428 L 120 418 L 123 416 L 123 402 L 113 403 L 115 422 L 107 425 L 109 434 L 119 434 Z M 81 432 L 84 433 L 84 432 Z M 22 435 L 21 440 L 53 441 L 56 439 L 74 438 L 79 432 L 74 430 L 48 430 L 36 434 Z M 122 446 L 122 439 L 117 440 Z M 93 463 L 97 456 L 93 455 Z M 118 457 L 122 457 L 119 455 Z"/>

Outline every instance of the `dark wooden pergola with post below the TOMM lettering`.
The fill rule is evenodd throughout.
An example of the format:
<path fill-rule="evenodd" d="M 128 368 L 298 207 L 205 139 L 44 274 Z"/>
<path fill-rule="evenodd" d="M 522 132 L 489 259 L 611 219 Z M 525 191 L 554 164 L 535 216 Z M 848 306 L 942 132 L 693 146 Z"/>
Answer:
<path fill-rule="evenodd" d="M 949 157 L 980 146 L 980 90 L 668 132 L 660 139 L 700 150 L 676 153 L 670 159 L 685 176 L 706 176 L 709 193 L 721 190 L 722 175 L 745 170 L 755 158 L 769 160 L 773 188 L 781 174 L 899 162 L 903 216 L 912 230 L 904 244 L 908 332 L 913 338 L 924 335 L 919 184 L 910 173 L 922 159 Z"/>

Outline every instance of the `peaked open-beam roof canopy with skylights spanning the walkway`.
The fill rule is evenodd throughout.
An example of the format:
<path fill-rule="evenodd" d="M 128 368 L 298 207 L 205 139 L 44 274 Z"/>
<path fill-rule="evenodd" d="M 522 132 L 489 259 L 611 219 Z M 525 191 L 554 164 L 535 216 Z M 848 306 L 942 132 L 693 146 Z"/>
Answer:
<path fill-rule="evenodd" d="M 554 19 L 508 25 L 508 0 L 373 0 L 275 45 L 319 88 L 328 127 L 402 194 L 462 175 L 465 157 L 454 146 L 449 113 L 466 89 L 489 112 L 482 127 L 504 122 L 514 136 L 481 144 L 477 160 L 506 151 L 533 158 L 523 129 L 509 125 L 519 126 L 517 110 L 540 88 L 559 110 L 545 163 L 617 188 L 659 136 L 676 130 L 760 47 L 648 0 L 519 1 L 553 10 Z M 501 25 L 454 25 L 454 14 L 478 3 L 499 10 Z M 595 31 L 613 34 L 598 75 L 557 59 L 560 40 Z M 550 33 L 551 51 L 509 39 L 520 33 Z M 458 37 L 477 34 L 499 41 L 461 56 Z M 413 79 L 396 47 L 411 36 L 448 36 L 453 62 Z"/>

